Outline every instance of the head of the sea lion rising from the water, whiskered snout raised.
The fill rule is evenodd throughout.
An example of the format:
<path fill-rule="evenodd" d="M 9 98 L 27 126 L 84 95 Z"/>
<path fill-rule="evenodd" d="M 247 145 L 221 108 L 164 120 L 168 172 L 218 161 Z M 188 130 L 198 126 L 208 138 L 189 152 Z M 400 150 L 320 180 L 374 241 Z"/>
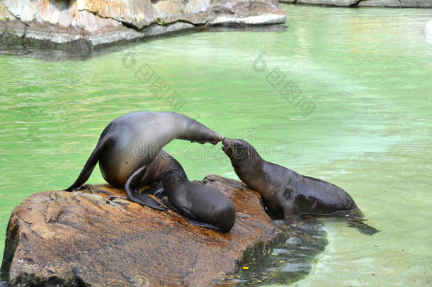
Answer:
<path fill-rule="evenodd" d="M 231 159 L 232 164 L 236 165 L 251 165 L 257 159 L 261 159 L 254 147 L 249 145 L 249 142 L 245 140 L 224 137 L 222 140 L 222 150 Z"/>

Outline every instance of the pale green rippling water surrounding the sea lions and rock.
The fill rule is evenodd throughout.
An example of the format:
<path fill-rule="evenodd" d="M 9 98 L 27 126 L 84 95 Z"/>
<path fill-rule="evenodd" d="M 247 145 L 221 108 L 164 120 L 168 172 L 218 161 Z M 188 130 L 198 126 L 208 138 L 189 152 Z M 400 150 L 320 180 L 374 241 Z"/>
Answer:
<path fill-rule="evenodd" d="M 110 120 L 178 111 L 341 186 L 381 230 L 324 220 L 329 245 L 296 286 L 431 285 L 431 10 L 283 7 L 285 30 L 191 33 L 81 61 L 0 55 L 0 249 L 13 207 L 72 184 Z M 152 94 L 148 67 L 166 95 Z M 300 99 L 315 106 L 308 115 Z M 237 178 L 220 145 L 167 150 L 191 179 Z M 95 169 L 89 183 L 101 182 Z"/>

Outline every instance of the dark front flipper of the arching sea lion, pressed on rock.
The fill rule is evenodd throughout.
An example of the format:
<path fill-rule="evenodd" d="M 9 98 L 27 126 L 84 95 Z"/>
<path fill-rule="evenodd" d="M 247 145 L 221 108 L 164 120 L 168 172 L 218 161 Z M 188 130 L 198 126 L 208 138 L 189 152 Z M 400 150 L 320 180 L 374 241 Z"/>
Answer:
<path fill-rule="evenodd" d="M 140 203 L 143 206 L 149 206 L 157 210 L 166 210 L 166 208 L 159 205 L 157 201 L 148 196 L 145 193 L 140 193 L 140 187 L 142 184 L 142 179 L 144 177 L 147 165 L 144 165 L 133 172 L 129 179 L 127 179 L 125 184 L 125 190 L 127 196 L 129 196 L 131 201 Z"/>

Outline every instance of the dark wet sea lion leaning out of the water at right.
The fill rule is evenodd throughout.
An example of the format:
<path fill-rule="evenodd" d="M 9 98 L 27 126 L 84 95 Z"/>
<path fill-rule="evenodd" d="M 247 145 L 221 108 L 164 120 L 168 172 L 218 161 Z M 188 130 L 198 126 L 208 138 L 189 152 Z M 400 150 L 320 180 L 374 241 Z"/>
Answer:
<path fill-rule="evenodd" d="M 378 230 L 364 223 L 353 198 L 342 188 L 313 177 L 303 176 L 278 164 L 266 162 L 244 140 L 224 137 L 222 150 L 231 159 L 239 179 L 258 191 L 270 215 L 289 218 L 292 215 L 350 215 L 350 225 L 372 235 Z"/>

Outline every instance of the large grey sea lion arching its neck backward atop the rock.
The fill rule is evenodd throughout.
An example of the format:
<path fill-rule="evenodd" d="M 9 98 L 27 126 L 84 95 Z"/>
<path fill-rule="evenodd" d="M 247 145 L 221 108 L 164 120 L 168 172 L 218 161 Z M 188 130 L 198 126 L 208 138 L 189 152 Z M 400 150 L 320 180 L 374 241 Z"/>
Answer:
<path fill-rule="evenodd" d="M 64 191 L 83 185 L 96 163 L 103 178 L 116 187 L 124 187 L 130 200 L 144 206 L 165 210 L 157 201 L 138 194 L 147 165 L 171 140 L 210 142 L 215 145 L 222 137 L 192 118 L 171 112 L 127 113 L 108 124 L 99 137 L 78 179 Z"/>

